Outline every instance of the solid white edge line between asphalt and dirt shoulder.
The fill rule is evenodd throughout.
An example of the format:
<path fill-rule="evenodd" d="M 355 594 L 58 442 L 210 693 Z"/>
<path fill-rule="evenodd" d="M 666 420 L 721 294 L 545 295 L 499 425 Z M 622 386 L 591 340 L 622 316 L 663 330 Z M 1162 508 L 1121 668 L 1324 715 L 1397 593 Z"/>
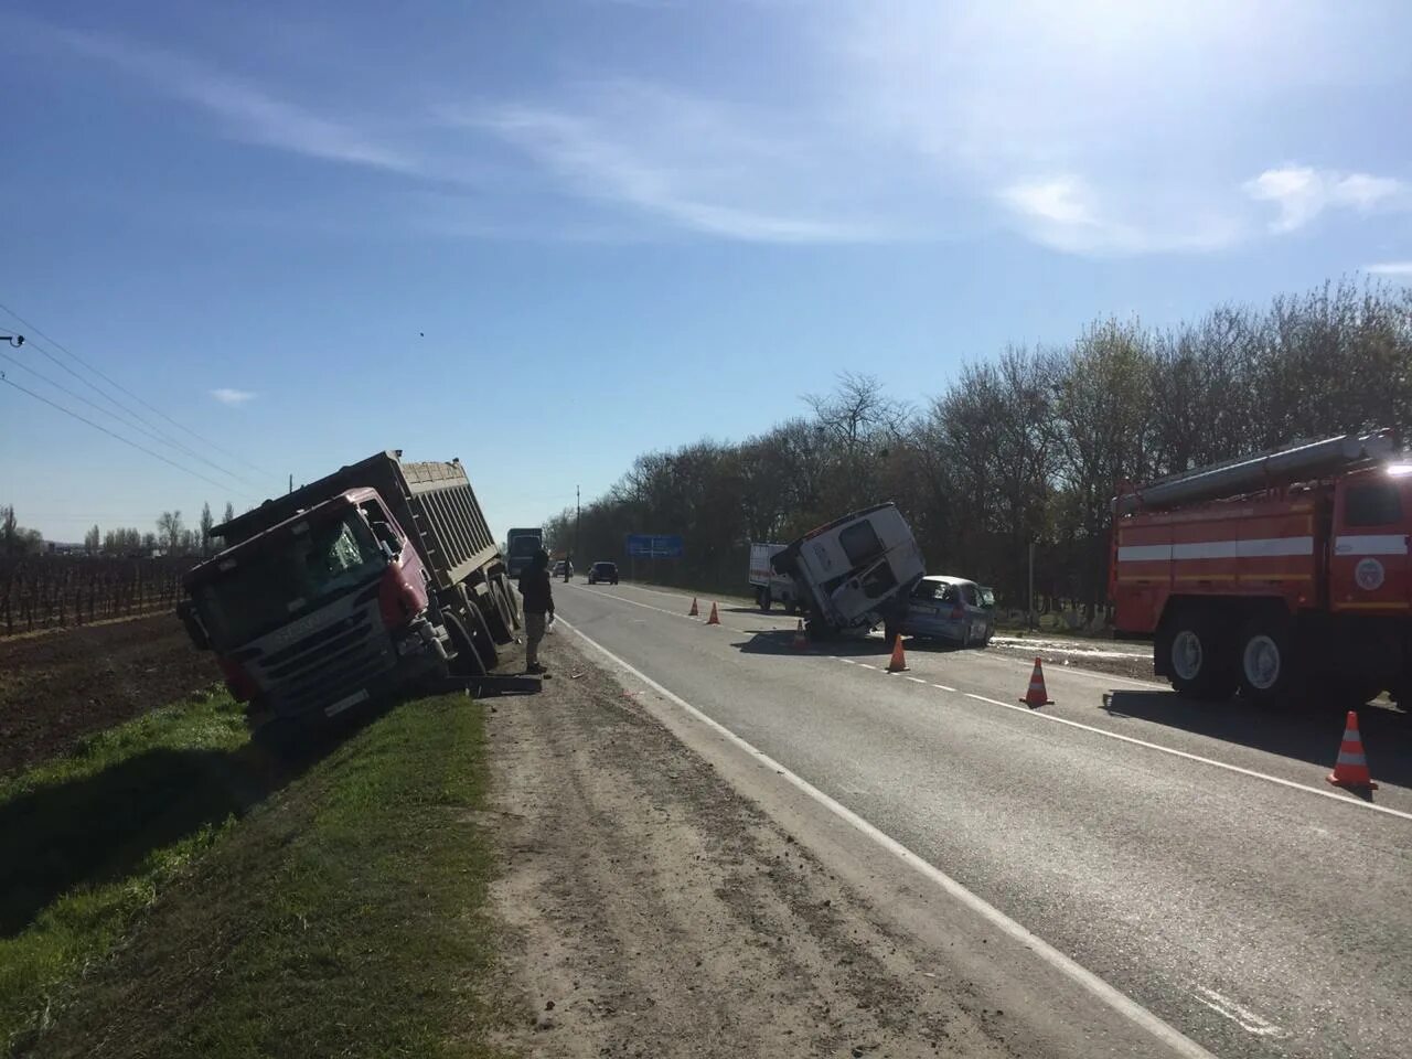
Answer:
<path fill-rule="evenodd" d="M 1065 956 L 1062 952 L 1059 952 L 1058 949 L 1055 949 L 1052 945 L 1049 945 L 1046 940 L 1043 940 L 1038 935 L 1031 933 L 1028 929 L 1025 929 L 1018 922 L 1015 922 L 1014 919 L 1011 919 L 1008 915 L 1005 915 L 1004 912 L 1001 912 L 993 904 L 990 904 L 988 901 L 986 901 L 980 895 L 973 894 L 970 890 L 967 890 L 966 887 L 963 887 L 960 882 L 957 882 L 955 878 L 952 878 L 945 871 L 942 871 L 940 868 L 938 868 L 935 864 L 932 864 L 931 861 L 923 860 L 918 854 L 912 853 L 912 850 L 909 850 L 907 846 L 904 846 L 902 843 L 899 843 L 897 839 L 891 837 L 885 832 L 878 830 L 874 825 L 868 823 L 866 819 L 863 819 L 861 816 L 858 816 L 856 812 L 853 812 L 847 806 L 840 805 L 834 799 L 829 798 L 829 795 L 826 795 L 823 791 L 820 791 L 819 788 L 813 786 L 806 779 L 802 779 L 798 775 L 795 775 L 794 772 L 791 772 L 788 768 L 785 768 L 782 764 L 779 764 L 772 757 L 770 757 L 768 754 L 765 754 L 762 750 L 757 750 L 754 746 L 751 746 L 750 743 L 747 743 L 746 740 L 743 740 L 740 736 L 737 736 L 734 731 L 731 731 L 730 729 L 727 729 L 724 724 L 713 720 L 712 717 L 707 717 L 699 709 L 696 709 L 689 702 L 686 702 L 686 699 L 683 699 L 682 696 L 676 695 L 675 692 L 668 690 L 666 688 L 664 688 L 662 685 L 659 685 L 657 681 L 654 681 L 647 674 L 641 672 L 640 669 L 634 668 L 631 664 L 628 664 L 628 662 L 623 661 L 621 658 L 618 658 L 616 654 L 613 654 L 611 651 L 609 651 L 606 647 L 603 647 L 600 642 L 597 642 L 592 637 L 580 633 L 578 628 L 575 628 L 573 626 L 570 626 L 568 621 L 565 621 L 563 626 L 570 633 L 573 633 L 580 640 L 583 640 L 583 642 L 589 644 L 596 651 L 599 651 L 604 658 L 610 659 L 611 662 L 616 662 L 626 672 L 628 672 L 633 676 L 635 676 L 638 681 L 641 681 L 648 688 L 651 688 L 652 690 L 655 690 L 664 699 L 666 699 L 668 702 L 675 703 L 676 706 L 679 706 L 681 709 L 683 709 L 689 716 L 695 717 L 696 720 L 699 720 L 703 724 L 706 724 L 712 730 L 714 730 L 719 734 L 724 736 L 730 743 L 733 743 L 736 747 L 738 747 L 740 750 L 743 750 L 747 754 L 750 754 L 751 757 L 754 757 L 757 761 L 760 761 L 767 768 L 772 768 L 778 775 L 784 777 L 796 789 L 802 791 L 805 795 L 808 795 L 815 802 L 818 802 L 819 805 L 822 805 L 825 809 L 827 809 L 829 812 L 832 812 L 840 820 L 843 820 L 843 822 L 851 825 L 853 827 L 856 827 L 860 833 L 863 833 L 864 836 L 867 836 L 868 839 L 871 839 L 873 842 L 875 842 L 878 846 L 881 846 L 888 853 L 891 853 L 892 856 L 895 856 L 904 864 L 907 864 L 911 868 L 914 868 L 915 871 L 919 871 L 921 874 L 926 875 L 932 882 L 935 882 L 940 890 L 943 890 L 952 898 L 955 898 L 956 901 L 959 901 L 963 905 L 966 905 L 967 908 L 970 908 L 973 912 L 976 912 L 983 919 L 986 919 L 988 923 L 991 923 L 995 929 L 1001 931 L 1003 933 L 1010 935 L 1012 939 L 1015 939 L 1017 942 L 1019 942 L 1021 945 L 1024 945 L 1027 949 L 1029 949 L 1031 952 L 1034 952 L 1034 955 L 1038 956 L 1041 960 L 1043 960 L 1045 963 L 1048 963 L 1051 967 L 1053 967 L 1055 970 L 1060 971 L 1062 974 L 1066 974 L 1069 979 L 1072 979 L 1075 983 L 1077 983 L 1082 988 L 1084 988 L 1090 994 L 1093 994 L 1097 1000 L 1100 1000 L 1101 1003 L 1107 1004 L 1115 1012 L 1118 1012 L 1120 1015 L 1123 1015 L 1124 1018 L 1127 1018 L 1130 1022 L 1132 1022 L 1134 1025 L 1139 1027 L 1145 1032 L 1151 1034 L 1152 1036 L 1155 1036 L 1162 1043 L 1168 1045 L 1178 1055 L 1190 1056 L 1192 1059 L 1216 1059 L 1210 1052 L 1207 1052 L 1199 1043 L 1196 1043 L 1189 1036 L 1186 1036 L 1185 1034 L 1182 1034 L 1179 1029 L 1176 1029 L 1171 1024 L 1168 1024 L 1168 1022 L 1162 1021 L 1161 1018 L 1158 1018 L 1156 1015 L 1154 1015 L 1145 1007 L 1142 1007 L 1141 1004 L 1138 1004 L 1135 1000 L 1132 1000 L 1131 997 L 1128 997 L 1125 993 L 1121 993 L 1120 990 L 1117 990 L 1113 986 L 1110 986 L 1107 981 L 1104 981 L 1103 979 L 1100 979 L 1097 974 L 1094 974 L 1093 971 L 1090 971 L 1087 967 L 1083 967 L 1082 964 L 1076 963 L 1069 956 Z"/>

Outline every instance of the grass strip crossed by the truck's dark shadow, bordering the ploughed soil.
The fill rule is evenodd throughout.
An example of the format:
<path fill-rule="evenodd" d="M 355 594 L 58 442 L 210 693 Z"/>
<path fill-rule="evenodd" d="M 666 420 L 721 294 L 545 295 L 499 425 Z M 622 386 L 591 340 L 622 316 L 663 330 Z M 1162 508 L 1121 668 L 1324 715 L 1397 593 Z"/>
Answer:
<path fill-rule="evenodd" d="M 0 781 L 0 1046 L 23 1046 L 78 971 L 240 809 L 249 741 L 225 695 L 155 710 Z"/>

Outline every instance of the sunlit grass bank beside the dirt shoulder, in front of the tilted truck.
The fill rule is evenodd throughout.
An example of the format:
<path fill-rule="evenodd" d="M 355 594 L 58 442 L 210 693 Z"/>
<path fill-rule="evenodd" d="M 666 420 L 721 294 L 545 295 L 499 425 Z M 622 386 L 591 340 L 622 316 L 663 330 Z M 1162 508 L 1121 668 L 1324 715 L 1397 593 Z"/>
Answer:
<path fill-rule="evenodd" d="M 239 823 L 209 819 L 127 857 L 130 874 L 80 884 L 4 942 L 51 983 L 27 987 L 0 949 L 6 1025 L 32 1028 L 54 1000 L 44 1032 L 21 1032 L 14 1053 L 79 1056 L 102 1042 L 103 1055 L 154 1058 L 494 1055 L 481 1043 L 498 1025 L 484 998 L 493 857 L 472 822 L 481 707 L 404 703 L 294 777 L 230 727 L 229 700 L 176 713 L 184 751 L 226 755 L 210 771 L 233 810 L 232 786 L 258 801 L 261 784 L 288 782 Z M 112 733 L 131 753 L 104 768 L 150 755 L 151 736 Z"/>

